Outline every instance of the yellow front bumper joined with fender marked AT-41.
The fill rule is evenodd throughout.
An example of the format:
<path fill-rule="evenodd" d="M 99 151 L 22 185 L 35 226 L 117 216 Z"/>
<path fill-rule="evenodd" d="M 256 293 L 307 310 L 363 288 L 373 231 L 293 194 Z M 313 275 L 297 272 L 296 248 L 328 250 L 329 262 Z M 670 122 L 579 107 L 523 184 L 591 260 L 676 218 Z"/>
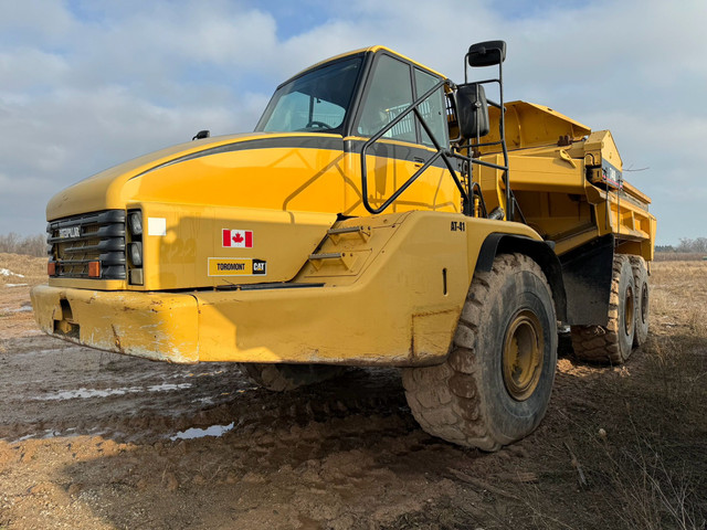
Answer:
<path fill-rule="evenodd" d="M 48 333 L 62 336 L 54 330 L 65 299 L 81 326 L 70 340 L 170 362 L 426 364 L 447 352 L 486 236 L 537 239 L 519 223 L 423 211 L 336 226 L 362 221 L 370 237 L 352 233 L 321 248 L 361 251 L 356 274 L 338 263 L 324 276 L 308 264 L 294 280 L 323 287 L 148 294 L 40 286 L 32 303 Z M 452 231 L 452 222 L 467 230 Z"/>

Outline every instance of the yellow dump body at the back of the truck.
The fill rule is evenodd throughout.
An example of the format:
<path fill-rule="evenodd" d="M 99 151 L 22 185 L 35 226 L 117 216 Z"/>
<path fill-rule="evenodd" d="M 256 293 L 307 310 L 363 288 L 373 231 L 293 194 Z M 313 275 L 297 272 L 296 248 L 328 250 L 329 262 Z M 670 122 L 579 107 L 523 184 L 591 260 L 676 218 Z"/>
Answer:
<path fill-rule="evenodd" d="M 623 162 L 609 130 L 592 131 L 540 105 L 506 104 L 511 189 L 529 226 L 555 242 L 558 255 L 613 234 L 616 252 L 653 259 L 655 216 L 651 199 L 623 180 Z M 490 109 L 490 119 L 498 113 Z M 497 127 L 484 141 L 494 141 Z M 496 135 L 497 137 L 497 135 Z M 481 160 L 502 153 L 479 148 Z M 488 209 L 505 206 L 500 171 L 479 167 L 475 179 Z"/>

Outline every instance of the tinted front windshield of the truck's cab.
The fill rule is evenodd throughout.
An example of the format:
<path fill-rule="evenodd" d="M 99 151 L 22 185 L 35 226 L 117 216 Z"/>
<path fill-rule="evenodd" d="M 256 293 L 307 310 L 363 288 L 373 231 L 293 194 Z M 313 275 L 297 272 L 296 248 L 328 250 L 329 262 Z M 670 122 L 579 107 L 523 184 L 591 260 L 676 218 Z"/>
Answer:
<path fill-rule="evenodd" d="M 255 130 L 340 132 L 362 61 L 362 56 L 337 61 L 281 86 Z"/>

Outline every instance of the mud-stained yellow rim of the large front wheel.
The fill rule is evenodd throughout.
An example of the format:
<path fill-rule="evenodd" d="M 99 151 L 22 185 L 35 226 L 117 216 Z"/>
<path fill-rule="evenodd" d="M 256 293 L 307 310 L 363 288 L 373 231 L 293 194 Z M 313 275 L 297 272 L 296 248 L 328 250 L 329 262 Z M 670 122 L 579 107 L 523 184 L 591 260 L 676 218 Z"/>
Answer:
<path fill-rule="evenodd" d="M 529 310 L 518 312 L 506 330 L 503 353 L 504 384 L 516 401 L 525 401 L 540 381 L 545 340 L 538 317 Z"/>

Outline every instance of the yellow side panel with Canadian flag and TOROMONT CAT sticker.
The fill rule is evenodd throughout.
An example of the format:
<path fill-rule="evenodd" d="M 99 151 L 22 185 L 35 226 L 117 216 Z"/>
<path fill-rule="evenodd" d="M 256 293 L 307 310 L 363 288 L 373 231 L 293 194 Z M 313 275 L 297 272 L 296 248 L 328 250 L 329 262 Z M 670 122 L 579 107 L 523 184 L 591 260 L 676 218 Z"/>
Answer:
<path fill-rule="evenodd" d="M 336 221 L 334 213 L 139 205 L 146 226 L 145 283 L 131 288 L 140 290 L 287 282 Z M 163 223 L 163 232 L 148 232 L 147 226 L 155 220 Z M 236 243 L 234 237 L 241 241 Z M 253 271 L 253 263 L 260 264 L 258 271 Z"/>

